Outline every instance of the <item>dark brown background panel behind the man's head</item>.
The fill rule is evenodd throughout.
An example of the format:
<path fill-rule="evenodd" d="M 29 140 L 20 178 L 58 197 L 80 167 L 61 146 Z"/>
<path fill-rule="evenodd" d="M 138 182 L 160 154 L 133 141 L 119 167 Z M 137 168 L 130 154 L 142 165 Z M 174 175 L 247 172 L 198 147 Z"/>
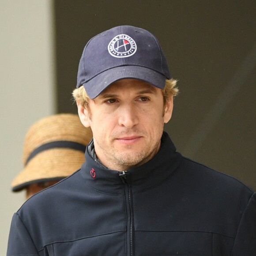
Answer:
<path fill-rule="evenodd" d="M 181 93 L 166 125 L 178 151 L 256 188 L 256 1 L 55 0 L 58 112 L 83 47 L 113 26 L 151 31 Z"/>

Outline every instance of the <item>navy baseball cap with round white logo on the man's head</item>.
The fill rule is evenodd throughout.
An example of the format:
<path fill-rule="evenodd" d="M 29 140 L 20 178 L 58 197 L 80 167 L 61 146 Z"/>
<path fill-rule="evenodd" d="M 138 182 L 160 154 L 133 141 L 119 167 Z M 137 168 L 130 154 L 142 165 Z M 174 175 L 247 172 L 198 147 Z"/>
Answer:
<path fill-rule="evenodd" d="M 171 75 L 157 38 L 142 28 L 117 26 L 88 41 L 79 62 L 76 88 L 96 98 L 120 79 L 139 79 L 163 89 Z"/>

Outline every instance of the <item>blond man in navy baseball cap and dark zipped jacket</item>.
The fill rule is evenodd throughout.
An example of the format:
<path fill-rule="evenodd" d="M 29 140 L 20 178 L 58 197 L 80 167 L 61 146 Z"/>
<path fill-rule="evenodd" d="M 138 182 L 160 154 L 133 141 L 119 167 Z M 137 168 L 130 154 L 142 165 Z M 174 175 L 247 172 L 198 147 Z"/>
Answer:
<path fill-rule="evenodd" d="M 157 39 L 118 26 L 86 45 L 73 95 L 93 140 L 70 177 L 15 213 L 10 255 L 256 255 L 256 195 L 163 132 L 176 81 Z"/>

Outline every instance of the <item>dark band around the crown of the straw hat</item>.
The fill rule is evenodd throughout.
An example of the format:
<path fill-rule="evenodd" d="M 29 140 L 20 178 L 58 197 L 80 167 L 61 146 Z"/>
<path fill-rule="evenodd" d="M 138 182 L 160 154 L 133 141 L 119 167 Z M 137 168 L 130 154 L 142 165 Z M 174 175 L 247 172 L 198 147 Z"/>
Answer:
<path fill-rule="evenodd" d="M 71 148 L 71 149 L 75 149 L 75 150 L 79 150 L 79 151 L 83 151 L 83 152 L 85 152 L 85 150 L 86 150 L 86 146 L 81 144 L 81 143 L 78 143 L 78 142 L 66 141 L 66 140 L 52 141 L 52 142 L 45 143 L 45 144 L 37 147 L 30 154 L 30 156 L 26 159 L 25 166 L 38 153 L 40 153 L 41 151 L 45 151 L 45 150 L 51 149 L 51 148 Z"/>

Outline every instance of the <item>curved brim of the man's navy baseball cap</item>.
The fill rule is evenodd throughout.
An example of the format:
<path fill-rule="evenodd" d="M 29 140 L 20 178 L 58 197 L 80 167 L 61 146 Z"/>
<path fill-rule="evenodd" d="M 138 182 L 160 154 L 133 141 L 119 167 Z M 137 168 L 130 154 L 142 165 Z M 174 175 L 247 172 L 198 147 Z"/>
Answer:
<path fill-rule="evenodd" d="M 83 83 L 83 86 L 88 96 L 93 99 L 96 98 L 111 83 L 114 83 L 120 79 L 128 78 L 145 81 L 160 89 L 163 89 L 166 84 L 165 75 L 162 75 L 161 73 L 158 73 L 152 69 L 140 66 L 120 66 L 100 73 L 86 83 Z"/>

